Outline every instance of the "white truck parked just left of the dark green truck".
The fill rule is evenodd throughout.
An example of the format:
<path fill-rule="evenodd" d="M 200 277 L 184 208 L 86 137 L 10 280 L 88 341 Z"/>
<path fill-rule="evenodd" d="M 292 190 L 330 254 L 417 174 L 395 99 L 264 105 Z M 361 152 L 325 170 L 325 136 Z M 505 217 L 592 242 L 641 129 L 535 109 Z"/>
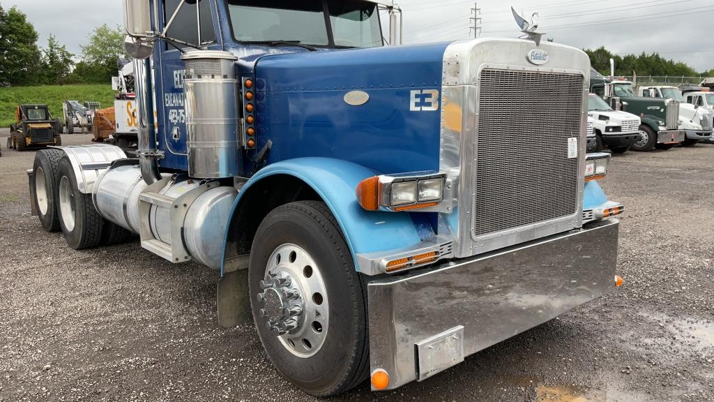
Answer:
<path fill-rule="evenodd" d="M 640 118 L 628 112 L 614 110 L 608 102 L 596 94 L 588 99 L 588 116 L 593 118 L 595 152 L 603 151 L 603 144 L 613 154 L 627 152 L 630 146 L 641 141 Z"/>

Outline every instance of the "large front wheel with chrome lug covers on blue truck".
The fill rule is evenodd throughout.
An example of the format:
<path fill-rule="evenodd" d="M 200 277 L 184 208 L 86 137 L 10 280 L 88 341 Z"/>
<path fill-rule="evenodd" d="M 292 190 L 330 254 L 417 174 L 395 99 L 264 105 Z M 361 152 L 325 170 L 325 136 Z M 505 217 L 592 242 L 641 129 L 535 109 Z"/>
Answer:
<path fill-rule="evenodd" d="M 323 397 L 368 377 L 366 283 L 323 202 L 268 214 L 253 241 L 248 280 L 263 348 L 288 381 Z M 302 313 L 290 315 L 296 304 Z"/>

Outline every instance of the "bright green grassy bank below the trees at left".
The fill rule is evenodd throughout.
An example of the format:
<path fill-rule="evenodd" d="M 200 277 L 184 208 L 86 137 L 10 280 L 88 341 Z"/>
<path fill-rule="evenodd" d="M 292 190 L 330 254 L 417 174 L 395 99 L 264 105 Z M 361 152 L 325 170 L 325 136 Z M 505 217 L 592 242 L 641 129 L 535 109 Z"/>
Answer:
<path fill-rule="evenodd" d="M 62 102 L 76 100 L 100 102 L 101 107 L 114 106 L 111 85 L 47 85 L 44 87 L 0 88 L 0 127 L 15 122 L 19 104 L 47 104 L 52 117 L 62 120 Z"/>

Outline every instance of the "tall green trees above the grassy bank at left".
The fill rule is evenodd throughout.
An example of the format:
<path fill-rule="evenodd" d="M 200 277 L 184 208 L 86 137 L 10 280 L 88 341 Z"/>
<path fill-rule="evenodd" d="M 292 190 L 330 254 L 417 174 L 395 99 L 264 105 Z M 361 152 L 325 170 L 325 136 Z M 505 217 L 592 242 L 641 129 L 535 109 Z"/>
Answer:
<path fill-rule="evenodd" d="M 47 46 L 16 6 L 0 4 L 0 85 L 109 84 L 116 76 L 116 61 L 126 57 L 124 31 L 104 24 L 96 27 L 75 55 L 50 35 Z"/>

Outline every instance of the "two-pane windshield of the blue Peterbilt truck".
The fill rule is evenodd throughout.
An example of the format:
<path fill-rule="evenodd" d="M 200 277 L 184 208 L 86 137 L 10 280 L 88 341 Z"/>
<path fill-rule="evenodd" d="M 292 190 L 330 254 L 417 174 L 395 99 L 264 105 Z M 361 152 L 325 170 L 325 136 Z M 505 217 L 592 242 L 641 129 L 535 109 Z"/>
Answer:
<path fill-rule="evenodd" d="M 233 37 L 241 42 L 294 41 L 313 46 L 382 46 L 379 12 L 367 1 L 228 0 Z M 281 44 L 284 45 L 284 44 Z"/>

